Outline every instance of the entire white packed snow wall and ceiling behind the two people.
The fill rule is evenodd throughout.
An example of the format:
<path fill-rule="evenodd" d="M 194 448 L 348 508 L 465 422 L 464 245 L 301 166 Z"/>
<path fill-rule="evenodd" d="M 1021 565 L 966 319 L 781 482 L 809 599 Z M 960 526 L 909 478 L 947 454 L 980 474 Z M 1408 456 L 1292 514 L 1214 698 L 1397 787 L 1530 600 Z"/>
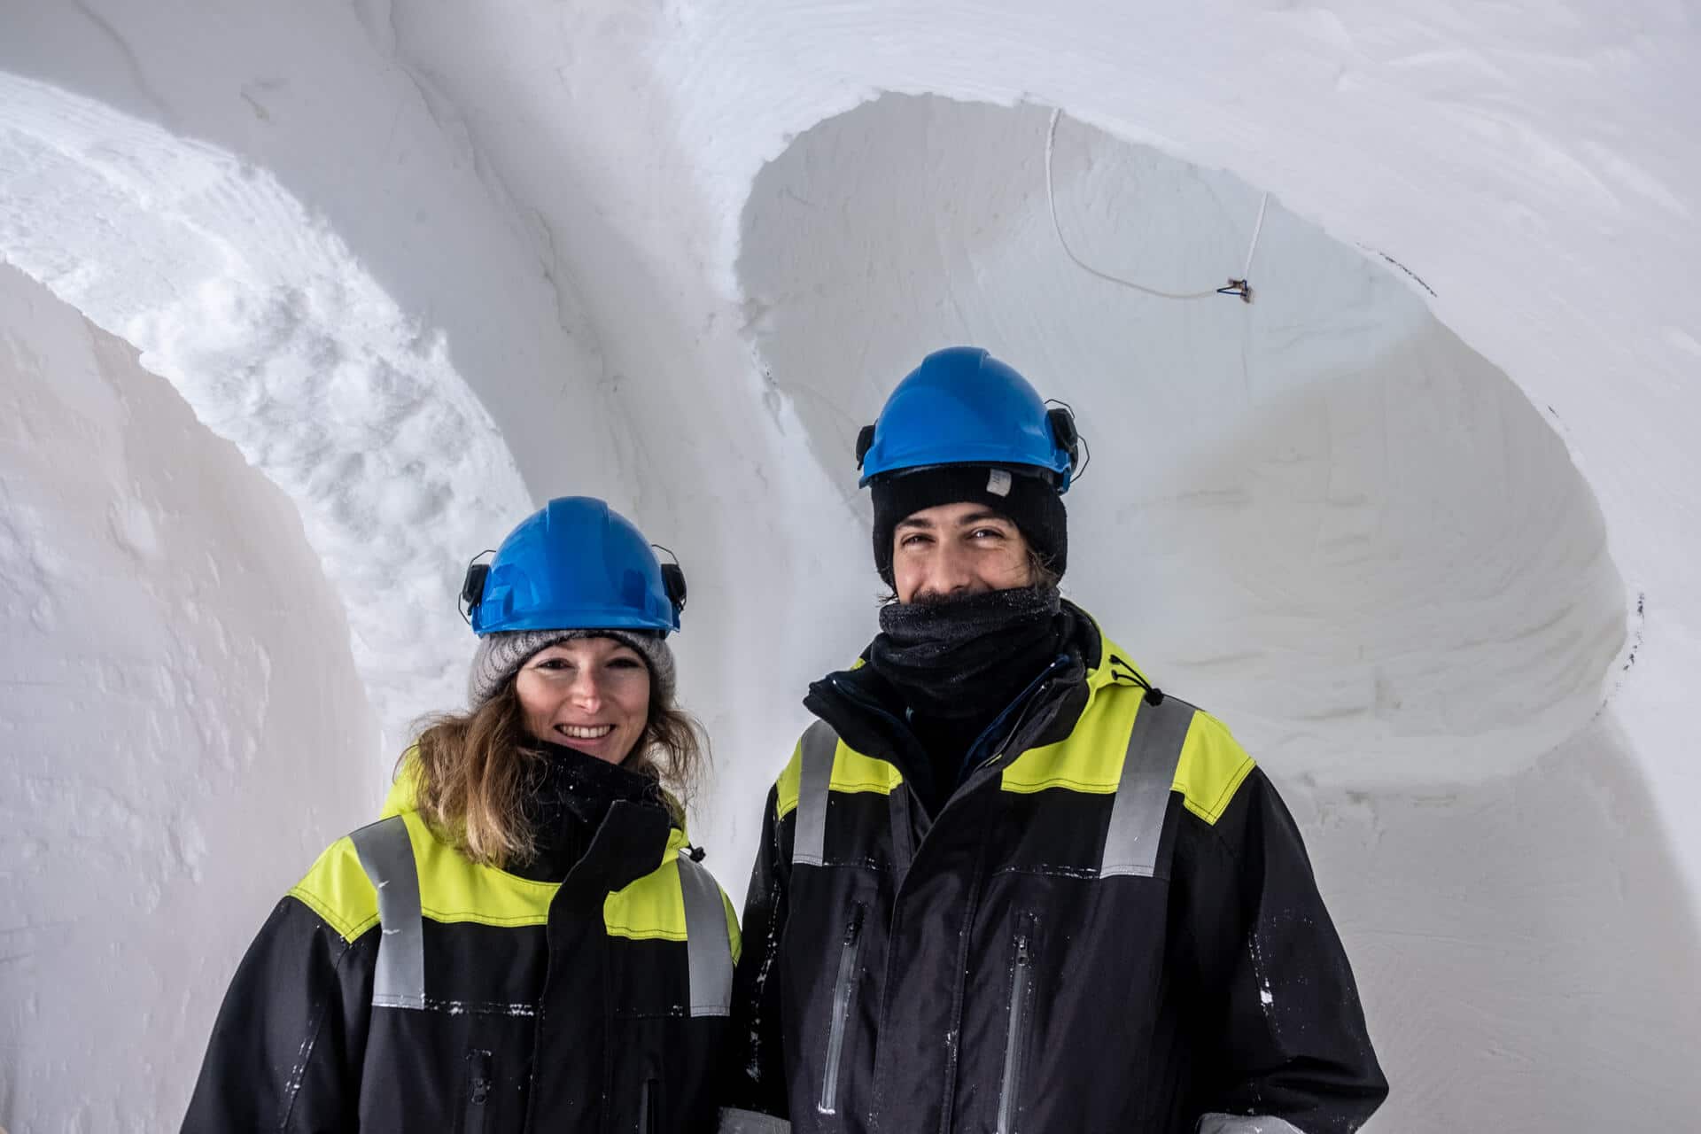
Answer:
<path fill-rule="evenodd" d="M 874 627 L 856 428 L 958 342 L 1305 828 L 1374 1129 L 1692 1125 L 1698 63 L 1653 0 L 10 5 L 0 1125 L 177 1122 L 551 495 L 686 564 L 737 893 Z M 1072 264 L 1055 111 L 1070 248 L 1255 303 Z"/>

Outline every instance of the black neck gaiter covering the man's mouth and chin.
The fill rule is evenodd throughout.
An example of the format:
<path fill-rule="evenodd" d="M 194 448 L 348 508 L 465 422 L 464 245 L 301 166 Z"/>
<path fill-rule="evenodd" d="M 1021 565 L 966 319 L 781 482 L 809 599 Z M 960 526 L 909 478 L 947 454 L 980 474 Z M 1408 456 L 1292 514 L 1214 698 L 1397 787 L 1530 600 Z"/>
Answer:
<path fill-rule="evenodd" d="M 913 717 L 985 726 L 1056 656 L 1060 604 L 1055 587 L 891 604 L 868 663 Z"/>

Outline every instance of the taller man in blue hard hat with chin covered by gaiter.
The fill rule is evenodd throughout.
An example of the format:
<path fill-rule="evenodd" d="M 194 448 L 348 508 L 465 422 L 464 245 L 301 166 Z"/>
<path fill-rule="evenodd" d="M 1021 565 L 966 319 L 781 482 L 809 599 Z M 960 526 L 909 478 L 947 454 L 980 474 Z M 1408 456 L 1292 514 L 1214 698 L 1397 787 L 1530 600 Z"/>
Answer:
<path fill-rule="evenodd" d="M 1276 789 L 1058 595 L 1068 410 L 939 350 L 857 449 L 893 597 L 767 796 L 723 1129 L 1357 1129 L 1388 1086 Z"/>

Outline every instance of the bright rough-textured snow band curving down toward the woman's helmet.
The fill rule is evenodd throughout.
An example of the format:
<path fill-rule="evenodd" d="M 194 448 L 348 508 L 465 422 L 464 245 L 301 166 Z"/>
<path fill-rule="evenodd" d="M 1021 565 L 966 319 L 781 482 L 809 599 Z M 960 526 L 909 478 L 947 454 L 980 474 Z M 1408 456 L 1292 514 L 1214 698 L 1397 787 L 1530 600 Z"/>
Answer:
<path fill-rule="evenodd" d="M 464 699 L 464 563 L 531 502 L 447 359 L 265 170 L 0 75 L 0 253 L 141 350 L 277 483 L 347 605 L 388 750 Z"/>

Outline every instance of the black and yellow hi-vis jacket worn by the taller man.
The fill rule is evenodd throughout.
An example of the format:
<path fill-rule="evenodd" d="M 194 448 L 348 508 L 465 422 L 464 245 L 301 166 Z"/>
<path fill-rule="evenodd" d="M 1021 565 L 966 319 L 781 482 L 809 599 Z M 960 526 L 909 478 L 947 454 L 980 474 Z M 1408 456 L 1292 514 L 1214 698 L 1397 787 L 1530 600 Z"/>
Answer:
<path fill-rule="evenodd" d="M 811 689 L 745 903 L 723 1131 L 1334 1134 L 1381 1103 L 1274 787 L 1070 610 L 1075 648 L 934 816 L 878 675 Z"/>

